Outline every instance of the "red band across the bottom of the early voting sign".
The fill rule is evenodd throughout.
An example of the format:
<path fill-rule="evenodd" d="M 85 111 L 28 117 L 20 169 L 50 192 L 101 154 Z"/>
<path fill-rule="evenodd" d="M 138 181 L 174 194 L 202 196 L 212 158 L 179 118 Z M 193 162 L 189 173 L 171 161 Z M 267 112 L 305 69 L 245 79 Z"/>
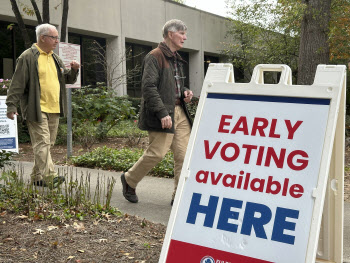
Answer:
<path fill-rule="evenodd" d="M 213 248 L 171 240 L 166 263 L 272 263 Z"/>

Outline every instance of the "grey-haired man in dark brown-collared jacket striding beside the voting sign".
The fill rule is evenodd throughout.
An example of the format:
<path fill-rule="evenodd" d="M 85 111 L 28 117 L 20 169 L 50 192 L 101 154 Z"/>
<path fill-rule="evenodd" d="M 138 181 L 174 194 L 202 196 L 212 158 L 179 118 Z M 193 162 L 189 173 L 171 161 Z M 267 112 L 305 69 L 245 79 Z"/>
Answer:
<path fill-rule="evenodd" d="M 137 184 L 169 149 L 174 153 L 175 189 L 171 205 L 174 202 L 192 125 L 186 103 L 191 101 L 193 93 L 184 87 L 182 65 L 186 62 L 177 53 L 187 39 L 186 30 L 180 20 L 166 22 L 164 41 L 143 61 L 139 128 L 148 131 L 149 146 L 134 166 L 121 176 L 123 195 L 132 203 L 138 202 Z"/>

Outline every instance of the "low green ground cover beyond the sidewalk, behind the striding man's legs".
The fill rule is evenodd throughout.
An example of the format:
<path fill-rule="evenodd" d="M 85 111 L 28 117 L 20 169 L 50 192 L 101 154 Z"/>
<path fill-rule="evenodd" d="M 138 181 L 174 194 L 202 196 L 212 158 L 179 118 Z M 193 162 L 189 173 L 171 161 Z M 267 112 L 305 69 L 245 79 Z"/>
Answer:
<path fill-rule="evenodd" d="M 76 166 L 101 168 L 104 170 L 127 171 L 143 154 L 142 149 L 123 148 L 121 150 L 102 147 L 80 156 L 72 157 Z M 162 177 L 174 177 L 172 152 L 151 170 L 151 174 Z"/>

